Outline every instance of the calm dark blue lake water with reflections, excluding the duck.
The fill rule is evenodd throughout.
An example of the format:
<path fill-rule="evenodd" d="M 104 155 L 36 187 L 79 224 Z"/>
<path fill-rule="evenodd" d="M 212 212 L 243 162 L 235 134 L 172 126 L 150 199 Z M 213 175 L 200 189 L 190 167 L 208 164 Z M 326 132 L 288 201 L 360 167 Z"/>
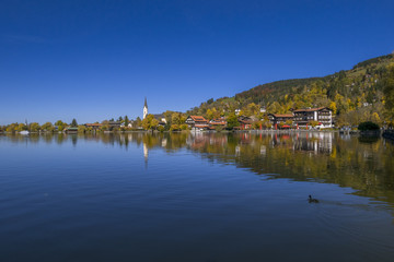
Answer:
<path fill-rule="evenodd" d="M 393 261 L 393 155 L 338 133 L 0 135 L 0 261 Z"/>

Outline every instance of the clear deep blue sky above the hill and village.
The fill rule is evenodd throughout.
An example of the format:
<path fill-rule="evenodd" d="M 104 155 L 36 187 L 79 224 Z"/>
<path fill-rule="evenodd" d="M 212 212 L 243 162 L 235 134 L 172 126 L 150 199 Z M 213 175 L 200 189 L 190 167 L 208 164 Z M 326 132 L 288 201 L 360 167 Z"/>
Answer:
<path fill-rule="evenodd" d="M 185 111 L 394 50 L 394 1 L 0 1 L 0 124 Z"/>

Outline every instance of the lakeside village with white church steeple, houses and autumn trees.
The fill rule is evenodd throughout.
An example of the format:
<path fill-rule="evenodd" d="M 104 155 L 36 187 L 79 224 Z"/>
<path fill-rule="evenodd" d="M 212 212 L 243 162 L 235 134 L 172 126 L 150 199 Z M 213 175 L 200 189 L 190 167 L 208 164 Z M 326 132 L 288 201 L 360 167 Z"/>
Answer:
<path fill-rule="evenodd" d="M 204 116 L 182 117 L 182 112 L 175 114 L 175 121 L 165 114 L 149 114 L 148 103 L 144 100 L 143 119 L 137 121 L 105 121 L 103 123 L 85 123 L 89 130 L 158 130 L 158 131 L 222 131 L 222 130 L 289 130 L 289 129 L 331 129 L 333 124 L 333 111 L 327 107 L 304 108 L 292 110 L 291 114 L 270 114 L 265 108 L 259 109 L 258 116 L 243 116 L 241 109 L 235 109 L 229 116 L 207 119 Z M 173 117 L 174 118 L 174 117 Z"/>

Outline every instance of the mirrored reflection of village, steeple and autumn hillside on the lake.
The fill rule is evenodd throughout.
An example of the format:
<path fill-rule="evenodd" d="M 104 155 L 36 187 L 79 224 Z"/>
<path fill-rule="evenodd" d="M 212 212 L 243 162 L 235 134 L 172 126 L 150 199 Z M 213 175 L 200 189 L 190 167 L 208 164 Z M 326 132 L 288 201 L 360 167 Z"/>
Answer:
<path fill-rule="evenodd" d="M 85 135 L 10 135 L 14 143 L 61 144 L 78 138 L 117 145 L 128 150 L 130 143 L 142 144 L 148 165 L 149 151 L 162 148 L 171 154 L 181 148 L 198 153 L 219 163 L 232 163 L 257 175 L 298 181 L 315 180 L 351 187 L 357 194 L 385 201 L 394 206 L 393 143 L 379 138 L 358 138 L 331 132 L 268 133 L 146 133 Z"/>

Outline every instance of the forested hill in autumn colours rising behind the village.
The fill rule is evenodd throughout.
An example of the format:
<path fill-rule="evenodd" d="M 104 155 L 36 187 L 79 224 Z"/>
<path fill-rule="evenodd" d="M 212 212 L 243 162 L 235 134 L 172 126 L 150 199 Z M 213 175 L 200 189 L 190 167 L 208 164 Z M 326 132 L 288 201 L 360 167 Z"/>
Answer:
<path fill-rule="evenodd" d="M 244 115 L 256 115 L 260 107 L 269 112 L 285 114 L 291 109 L 326 106 L 337 115 L 339 124 L 356 124 L 362 120 L 384 123 L 393 117 L 390 115 L 391 99 L 394 99 L 393 81 L 392 53 L 327 76 L 276 81 L 233 97 L 208 99 L 188 114 L 215 118 L 232 114 L 237 108 Z"/>

